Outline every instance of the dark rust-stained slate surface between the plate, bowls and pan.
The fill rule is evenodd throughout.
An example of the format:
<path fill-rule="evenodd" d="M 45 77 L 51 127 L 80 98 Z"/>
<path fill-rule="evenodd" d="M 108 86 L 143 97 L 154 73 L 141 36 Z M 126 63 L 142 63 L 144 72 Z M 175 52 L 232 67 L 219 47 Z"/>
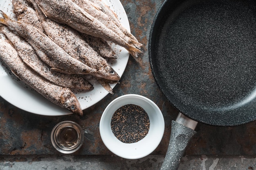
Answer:
<path fill-rule="evenodd" d="M 63 120 L 79 123 L 85 131 L 85 142 L 73 155 L 111 155 L 99 134 L 99 120 L 108 103 L 124 94 L 140 94 L 153 100 L 162 110 L 165 132 L 162 142 L 153 152 L 166 153 L 171 120 L 178 111 L 159 91 L 148 62 L 148 36 L 156 11 L 163 0 L 121 0 L 130 22 L 131 32 L 145 45 L 145 54 L 137 63 L 130 57 L 114 95 L 84 110 L 84 116 L 40 116 L 9 104 L 0 97 L 0 155 L 57 155 L 50 142 L 52 128 Z M 216 127 L 198 124 L 198 133 L 191 140 L 186 155 L 256 155 L 256 122 L 236 127 Z"/>

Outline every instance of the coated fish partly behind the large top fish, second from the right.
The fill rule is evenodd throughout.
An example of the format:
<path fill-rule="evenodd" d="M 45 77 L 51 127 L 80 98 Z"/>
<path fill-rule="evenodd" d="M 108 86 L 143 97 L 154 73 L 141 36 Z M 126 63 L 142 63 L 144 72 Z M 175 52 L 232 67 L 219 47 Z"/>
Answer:
<path fill-rule="evenodd" d="M 128 44 L 132 44 L 137 48 L 140 48 L 142 44 L 138 41 L 131 39 L 130 37 L 126 36 L 121 29 L 115 24 L 115 21 L 112 21 L 111 18 L 103 13 L 100 9 L 98 9 L 94 3 L 90 0 L 72 0 L 75 4 L 81 7 L 84 11 L 92 15 L 92 17 L 99 20 L 102 24 L 104 24 L 107 28 L 115 32 L 121 38 L 123 38 Z"/>

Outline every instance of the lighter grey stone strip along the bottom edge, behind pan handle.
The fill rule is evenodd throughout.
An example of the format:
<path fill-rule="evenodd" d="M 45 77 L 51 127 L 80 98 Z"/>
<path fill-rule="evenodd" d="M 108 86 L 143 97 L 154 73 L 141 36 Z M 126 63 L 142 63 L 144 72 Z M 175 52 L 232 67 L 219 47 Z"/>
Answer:
<path fill-rule="evenodd" d="M 1 170 L 159 170 L 164 155 L 123 159 L 115 155 L 0 156 Z M 178 170 L 254 170 L 252 156 L 194 155 L 182 157 Z"/>

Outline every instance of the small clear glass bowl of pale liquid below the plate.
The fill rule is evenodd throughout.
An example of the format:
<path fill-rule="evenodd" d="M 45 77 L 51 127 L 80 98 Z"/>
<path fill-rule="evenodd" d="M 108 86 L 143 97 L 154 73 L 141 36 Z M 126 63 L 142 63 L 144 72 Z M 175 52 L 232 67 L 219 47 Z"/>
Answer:
<path fill-rule="evenodd" d="M 51 142 L 60 153 L 74 153 L 83 145 L 84 133 L 79 124 L 63 121 L 52 129 Z"/>

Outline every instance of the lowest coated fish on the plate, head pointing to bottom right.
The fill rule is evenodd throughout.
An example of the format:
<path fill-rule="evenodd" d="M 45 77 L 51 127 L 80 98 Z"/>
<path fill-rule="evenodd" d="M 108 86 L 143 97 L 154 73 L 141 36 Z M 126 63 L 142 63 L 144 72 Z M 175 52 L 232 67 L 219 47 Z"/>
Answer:
<path fill-rule="evenodd" d="M 2 39 L 0 39 L 0 58 L 9 66 L 13 74 L 36 90 L 36 92 L 56 105 L 83 116 L 83 110 L 70 89 L 50 83 L 39 76 L 20 59 L 13 46 Z"/>

